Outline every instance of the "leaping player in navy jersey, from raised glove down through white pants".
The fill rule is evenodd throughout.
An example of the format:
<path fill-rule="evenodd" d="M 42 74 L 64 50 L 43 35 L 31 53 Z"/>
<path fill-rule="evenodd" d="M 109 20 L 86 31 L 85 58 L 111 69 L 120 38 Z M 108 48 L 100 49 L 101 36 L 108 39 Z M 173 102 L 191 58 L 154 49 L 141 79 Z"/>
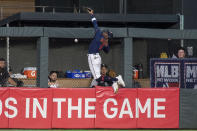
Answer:
<path fill-rule="evenodd" d="M 104 51 L 105 53 L 109 52 L 109 39 L 113 37 L 113 34 L 108 30 L 101 31 L 98 28 L 98 24 L 96 18 L 94 16 L 94 11 L 92 9 L 87 10 L 91 15 L 91 21 L 94 26 L 95 36 L 91 41 L 88 49 L 88 64 L 90 71 L 93 75 L 93 81 L 91 83 L 91 87 L 97 85 L 96 79 L 98 79 L 101 74 L 101 57 L 99 55 L 100 51 Z"/>

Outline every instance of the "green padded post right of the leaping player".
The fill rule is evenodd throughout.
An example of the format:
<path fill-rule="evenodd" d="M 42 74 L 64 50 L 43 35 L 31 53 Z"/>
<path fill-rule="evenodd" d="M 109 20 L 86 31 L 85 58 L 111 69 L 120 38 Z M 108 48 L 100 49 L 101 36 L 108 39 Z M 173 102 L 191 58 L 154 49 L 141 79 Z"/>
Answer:
<path fill-rule="evenodd" d="M 133 38 L 124 38 L 124 80 L 126 87 L 132 87 L 133 81 Z"/>

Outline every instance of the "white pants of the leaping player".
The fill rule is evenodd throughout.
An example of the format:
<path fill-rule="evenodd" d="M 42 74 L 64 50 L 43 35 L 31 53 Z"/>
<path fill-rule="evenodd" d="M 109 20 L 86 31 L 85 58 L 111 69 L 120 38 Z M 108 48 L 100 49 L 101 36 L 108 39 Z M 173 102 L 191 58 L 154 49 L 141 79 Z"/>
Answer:
<path fill-rule="evenodd" d="M 91 86 L 95 85 L 95 79 L 99 78 L 101 76 L 101 57 L 99 53 L 96 54 L 88 54 L 88 64 L 90 71 L 93 75 L 93 82 Z"/>

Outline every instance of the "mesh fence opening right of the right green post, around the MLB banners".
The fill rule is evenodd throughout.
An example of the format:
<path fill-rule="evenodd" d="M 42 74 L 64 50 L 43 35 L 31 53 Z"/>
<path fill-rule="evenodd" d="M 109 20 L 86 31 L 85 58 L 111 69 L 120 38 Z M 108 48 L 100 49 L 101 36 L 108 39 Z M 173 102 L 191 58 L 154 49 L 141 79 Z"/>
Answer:
<path fill-rule="evenodd" d="M 150 87 L 151 58 L 178 59 L 178 50 L 182 48 L 180 39 L 135 38 L 133 41 L 133 67 L 138 71 L 134 82 L 140 84 L 140 87 Z M 183 42 L 185 58 L 197 58 L 197 41 L 184 40 Z"/>

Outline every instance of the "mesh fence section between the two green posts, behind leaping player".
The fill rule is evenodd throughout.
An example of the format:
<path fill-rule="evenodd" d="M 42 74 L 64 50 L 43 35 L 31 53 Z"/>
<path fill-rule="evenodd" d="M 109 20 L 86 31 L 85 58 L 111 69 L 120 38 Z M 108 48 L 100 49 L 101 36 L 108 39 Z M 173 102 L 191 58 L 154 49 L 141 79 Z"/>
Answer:
<path fill-rule="evenodd" d="M 56 71 L 59 87 L 90 87 L 92 81 L 88 66 L 88 47 L 92 39 L 50 39 L 49 72 Z M 122 74 L 122 42 L 110 42 L 110 52 L 101 52 L 102 63 L 107 64 L 118 74 Z M 75 72 L 79 76 L 70 76 Z"/>

